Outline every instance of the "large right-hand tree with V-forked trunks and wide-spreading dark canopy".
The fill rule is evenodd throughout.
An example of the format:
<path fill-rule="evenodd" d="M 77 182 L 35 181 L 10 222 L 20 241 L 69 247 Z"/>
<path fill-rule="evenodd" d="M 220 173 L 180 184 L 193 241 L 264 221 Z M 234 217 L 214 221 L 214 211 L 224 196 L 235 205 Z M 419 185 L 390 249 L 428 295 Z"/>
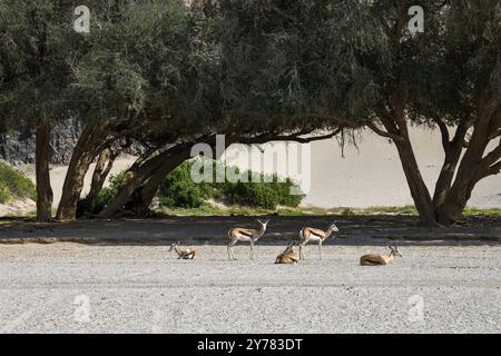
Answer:
<path fill-rule="evenodd" d="M 320 119 L 313 127 L 335 120 L 389 138 L 424 224 L 456 221 L 477 182 L 499 172 L 499 0 L 209 3 L 223 9 L 236 43 L 227 79 L 237 111 L 289 109 L 283 117 Z M 424 33 L 409 31 L 412 6 L 424 9 Z M 442 135 L 433 197 L 410 139 L 413 125 Z"/>

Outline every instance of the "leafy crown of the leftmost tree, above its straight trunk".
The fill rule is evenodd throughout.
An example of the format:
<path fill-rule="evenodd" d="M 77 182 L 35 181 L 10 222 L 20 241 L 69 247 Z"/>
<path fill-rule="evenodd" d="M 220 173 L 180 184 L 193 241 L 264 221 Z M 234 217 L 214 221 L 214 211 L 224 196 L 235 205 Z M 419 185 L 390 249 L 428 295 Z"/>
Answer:
<path fill-rule="evenodd" d="M 0 1 L 0 111 L 11 126 L 67 117 L 61 91 L 78 37 L 67 1 Z"/>

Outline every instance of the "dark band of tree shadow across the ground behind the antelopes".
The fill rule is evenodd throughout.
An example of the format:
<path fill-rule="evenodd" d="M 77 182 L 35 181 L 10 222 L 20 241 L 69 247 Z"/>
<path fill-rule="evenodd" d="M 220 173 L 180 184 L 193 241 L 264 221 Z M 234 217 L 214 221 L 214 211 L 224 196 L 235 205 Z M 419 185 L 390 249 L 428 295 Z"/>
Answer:
<path fill-rule="evenodd" d="M 261 245 L 298 240 L 303 226 L 326 228 L 335 221 L 336 238 L 325 245 L 500 245 L 501 218 L 470 217 L 462 226 L 430 228 L 413 216 L 301 216 L 272 217 Z M 79 220 L 36 224 L 30 219 L 0 219 L 0 243 L 99 245 L 166 245 L 180 240 L 193 245 L 224 245 L 230 227 L 258 228 L 256 217 L 163 217 L 154 219 Z"/>

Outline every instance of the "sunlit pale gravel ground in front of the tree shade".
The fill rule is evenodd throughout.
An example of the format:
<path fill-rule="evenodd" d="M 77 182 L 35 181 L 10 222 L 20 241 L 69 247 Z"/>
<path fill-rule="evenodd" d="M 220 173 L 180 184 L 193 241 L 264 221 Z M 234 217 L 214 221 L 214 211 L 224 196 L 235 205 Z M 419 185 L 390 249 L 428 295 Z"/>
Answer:
<path fill-rule="evenodd" d="M 282 245 L 0 245 L 1 333 L 501 333 L 501 246 L 401 244 L 403 258 L 361 267 L 379 243 L 316 246 L 274 265 Z"/>

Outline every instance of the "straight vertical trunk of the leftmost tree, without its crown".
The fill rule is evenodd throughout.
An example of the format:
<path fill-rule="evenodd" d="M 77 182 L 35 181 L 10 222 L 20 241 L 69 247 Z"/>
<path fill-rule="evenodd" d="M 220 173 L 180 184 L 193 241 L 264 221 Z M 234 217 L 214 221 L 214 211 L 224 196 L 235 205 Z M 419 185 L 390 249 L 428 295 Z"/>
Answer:
<path fill-rule="evenodd" d="M 52 217 L 53 194 L 49 170 L 50 126 L 42 123 L 36 134 L 37 220 L 48 222 Z"/>

